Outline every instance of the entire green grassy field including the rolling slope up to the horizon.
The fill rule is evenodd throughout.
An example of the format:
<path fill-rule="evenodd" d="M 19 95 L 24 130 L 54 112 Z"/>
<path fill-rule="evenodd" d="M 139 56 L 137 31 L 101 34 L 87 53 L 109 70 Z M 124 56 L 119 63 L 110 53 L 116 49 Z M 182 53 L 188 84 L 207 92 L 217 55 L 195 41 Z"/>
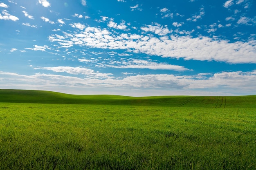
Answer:
<path fill-rule="evenodd" d="M 0 170 L 255 170 L 256 95 L 0 90 Z"/>

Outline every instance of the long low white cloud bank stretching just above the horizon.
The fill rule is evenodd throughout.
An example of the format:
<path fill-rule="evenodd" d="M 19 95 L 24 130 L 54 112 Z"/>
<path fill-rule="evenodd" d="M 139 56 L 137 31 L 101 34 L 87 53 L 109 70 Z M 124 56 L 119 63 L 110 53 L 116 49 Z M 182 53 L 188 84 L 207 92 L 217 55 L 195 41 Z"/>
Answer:
<path fill-rule="evenodd" d="M 16 73 L 5 73 L 0 71 L 0 88 L 48 89 L 50 91 L 53 91 L 53 89 L 58 91 L 58 89 L 64 87 L 71 88 L 73 91 L 77 88 L 90 88 L 90 91 L 99 91 L 100 88 L 104 88 L 105 91 L 111 91 L 111 89 L 112 91 L 116 91 L 117 88 L 119 88 L 120 92 L 129 91 L 129 89 L 131 89 L 131 91 L 136 91 L 137 89 L 139 91 L 149 92 L 145 93 L 145 95 L 152 95 L 152 91 L 159 89 L 162 90 L 162 93 L 161 91 L 158 91 L 158 93 L 155 92 L 155 94 L 168 95 L 169 93 L 173 93 L 173 91 L 179 91 L 176 95 L 181 95 L 181 91 L 183 91 L 183 95 L 188 95 L 194 91 L 193 94 L 197 95 L 219 95 L 220 93 L 226 95 L 252 95 L 255 94 L 256 84 L 255 70 L 248 72 L 236 71 L 215 74 L 200 73 L 189 76 L 172 74 L 129 76 L 129 74 L 126 74 L 124 77 L 110 77 L 112 76 L 111 73 L 99 73 L 82 67 L 63 66 L 35 69 L 49 70 L 56 73 L 65 72 L 76 76 L 73 77 L 42 73 L 35 75 L 18 75 Z M 79 74 L 85 75 L 85 77 L 78 77 L 77 75 Z M 151 92 L 147 91 L 145 88 L 149 88 Z M 200 90 L 204 91 L 204 93 L 200 92 Z M 218 93 L 216 93 L 217 91 Z M 81 91 L 79 94 L 81 94 Z"/>

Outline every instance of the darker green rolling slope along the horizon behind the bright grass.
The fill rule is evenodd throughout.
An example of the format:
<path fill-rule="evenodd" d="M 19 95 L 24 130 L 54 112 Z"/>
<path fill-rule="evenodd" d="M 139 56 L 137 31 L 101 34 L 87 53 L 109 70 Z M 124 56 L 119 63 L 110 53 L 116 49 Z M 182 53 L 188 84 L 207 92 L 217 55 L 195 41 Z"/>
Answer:
<path fill-rule="evenodd" d="M 171 107 L 256 108 L 251 96 L 150 96 L 70 95 L 50 91 L 0 90 L 0 102 L 47 104 L 108 104 Z"/>

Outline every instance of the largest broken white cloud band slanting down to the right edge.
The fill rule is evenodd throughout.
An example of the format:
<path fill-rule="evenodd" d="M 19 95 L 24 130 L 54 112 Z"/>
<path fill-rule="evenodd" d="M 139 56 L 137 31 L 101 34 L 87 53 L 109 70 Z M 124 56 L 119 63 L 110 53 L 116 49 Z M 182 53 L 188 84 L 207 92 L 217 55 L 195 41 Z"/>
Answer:
<path fill-rule="evenodd" d="M 207 31 L 214 31 L 207 30 Z M 218 38 L 199 36 L 192 38 L 190 35 L 169 35 L 171 31 L 167 26 L 160 24 L 141 27 L 138 34 L 114 33 L 95 27 L 87 27 L 80 33 L 65 35 L 65 45 L 76 43 L 79 46 L 101 49 L 122 49 L 133 53 L 144 53 L 161 57 L 184 58 L 184 60 L 208 60 L 227 63 L 256 63 L 256 46 L 250 42 L 229 42 Z M 192 30 L 191 32 L 193 32 Z M 158 36 L 155 37 L 153 32 Z M 183 33 L 185 33 L 184 31 Z M 63 40 L 56 35 L 48 37 L 50 41 L 63 45 Z"/>

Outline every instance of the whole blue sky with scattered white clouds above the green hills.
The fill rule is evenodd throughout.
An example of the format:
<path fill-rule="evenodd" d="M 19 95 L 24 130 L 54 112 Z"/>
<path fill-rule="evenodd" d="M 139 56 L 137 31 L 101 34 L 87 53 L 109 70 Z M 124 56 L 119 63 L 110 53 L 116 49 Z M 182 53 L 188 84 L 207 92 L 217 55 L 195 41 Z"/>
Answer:
<path fill-rule="evenodd" d="M 256 95 L 256 1 L 0 0 L 0 89 Z"/>

